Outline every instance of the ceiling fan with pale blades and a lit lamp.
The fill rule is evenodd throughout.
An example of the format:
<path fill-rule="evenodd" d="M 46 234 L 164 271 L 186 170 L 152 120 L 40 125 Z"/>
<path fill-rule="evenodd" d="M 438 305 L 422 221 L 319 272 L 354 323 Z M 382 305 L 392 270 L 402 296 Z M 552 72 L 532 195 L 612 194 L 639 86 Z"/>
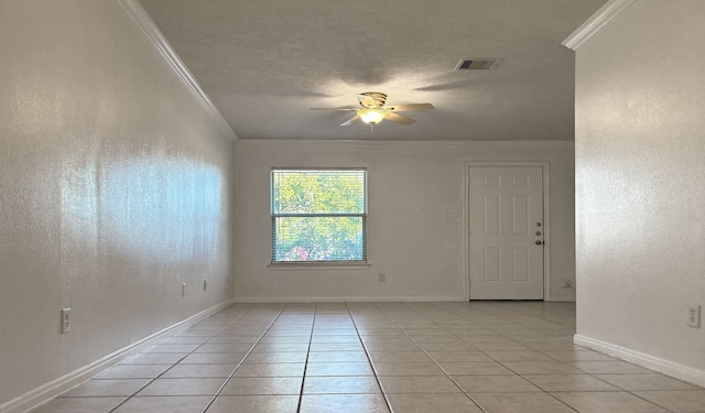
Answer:
<path fill-rule="evenodd" d="M 411 124 L 415 120 L 397 112 L 433 109 L 431 104 L 410 104 L 387 106 L 387 94 L 380 91 L 365 91 L 357 95 L 359 108 L 311 108 L 311 110 L 345 110 L 356 112 L 355 117 L 340 123 L 341 127 L 349 127 L 358 120 L 375 126 L 387 119 L 394 123 Z"/>

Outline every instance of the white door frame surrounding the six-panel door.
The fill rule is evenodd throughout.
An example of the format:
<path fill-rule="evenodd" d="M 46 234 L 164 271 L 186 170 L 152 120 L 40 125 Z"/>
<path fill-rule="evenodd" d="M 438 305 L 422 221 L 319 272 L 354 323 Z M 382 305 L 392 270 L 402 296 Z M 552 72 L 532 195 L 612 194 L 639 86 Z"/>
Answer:
<path fill-rule="evenodd" d="M 549 162 L 464 162 L 463 163 L 463 232 L 465 265 L 465 301 L 470 301 L 470 167 L 541 167 L 543 176 L 543 301 L 551 301 L 551 186 Z"/>

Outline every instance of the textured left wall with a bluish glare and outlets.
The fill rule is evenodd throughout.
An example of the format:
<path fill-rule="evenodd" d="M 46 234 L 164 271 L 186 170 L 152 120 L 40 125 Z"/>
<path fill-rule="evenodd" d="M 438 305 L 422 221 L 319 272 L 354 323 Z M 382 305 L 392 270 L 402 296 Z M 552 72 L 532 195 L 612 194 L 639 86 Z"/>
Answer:
<path fill-rule="evenodd" d="M 2 0 L 0 56 L 1 410 L 230 298 L 232 144 L 115 1 Z"/>

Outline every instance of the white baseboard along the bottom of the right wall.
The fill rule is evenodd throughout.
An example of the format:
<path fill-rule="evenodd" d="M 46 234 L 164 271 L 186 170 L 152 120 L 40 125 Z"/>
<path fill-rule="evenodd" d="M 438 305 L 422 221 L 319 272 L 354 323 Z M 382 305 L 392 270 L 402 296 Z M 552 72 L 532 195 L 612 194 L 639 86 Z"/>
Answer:
<path fill-rule="evenodd" d="M 651 370 L 655 370 L 665 376 L 687 381 L 688 383 L 695 385 L 705 387 L 705 371 L 703 370 L 679 365 L 659 357 L 650 356 L 643 352 L 631 350 L 629 348 L 616 346 L 614 344 L 600 341 L 577 334 L 573 336 L 573 343 L 578 346 L 587 347 L 589 349 L 604 352 L 608 356 L 612 356 L 618 359 L 629 361 Z"/>

